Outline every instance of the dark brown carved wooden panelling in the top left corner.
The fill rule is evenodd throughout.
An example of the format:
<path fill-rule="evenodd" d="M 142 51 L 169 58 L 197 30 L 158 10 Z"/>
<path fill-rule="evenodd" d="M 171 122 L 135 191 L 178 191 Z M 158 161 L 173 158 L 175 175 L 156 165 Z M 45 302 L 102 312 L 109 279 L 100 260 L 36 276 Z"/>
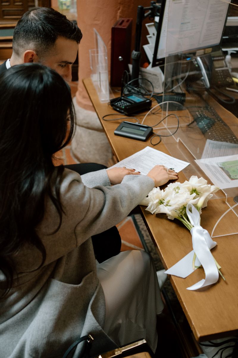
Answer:
<path fill-rule="evenodd" d="M 50 0 L 0 0 L 0 23 L 17 23 L 21 15 L 35 6 L 50 7 Z"/>

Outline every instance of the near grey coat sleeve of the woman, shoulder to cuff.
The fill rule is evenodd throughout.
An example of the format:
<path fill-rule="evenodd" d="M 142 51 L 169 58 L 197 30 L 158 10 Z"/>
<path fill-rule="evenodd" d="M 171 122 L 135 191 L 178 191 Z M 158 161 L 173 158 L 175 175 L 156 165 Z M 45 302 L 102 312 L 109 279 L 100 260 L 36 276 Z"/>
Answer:
<path fill-rule="evenodd" d="M 126 175 L 121 184 L 88 188 L 79 174 L 65 169 L 60 189 L 64 210 L 60 229 L 59 214 L 50 199 L 38 228 L 48 254 L 46 264 L 119 223 L 153 187 L 153 180 L 146 175 Z"/>

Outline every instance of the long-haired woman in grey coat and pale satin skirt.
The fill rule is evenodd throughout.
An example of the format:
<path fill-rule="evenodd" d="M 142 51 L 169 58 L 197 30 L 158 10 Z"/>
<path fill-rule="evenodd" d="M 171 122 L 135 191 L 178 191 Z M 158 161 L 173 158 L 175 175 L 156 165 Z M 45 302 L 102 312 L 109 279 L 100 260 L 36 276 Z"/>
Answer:
<path fill-rule="evenodd" d="M 88 333 L 91 354 L 142 337 L 155 351 L 163 305 L 150 257 L 128 251 L 96 266 L 90 237 L 177 173 L 156 166 L 147 176 L 113 168 L 81 177 L 54 167 L 74 109 L 65 81 L 40 64 L 3 74 L 0 118 L 0 357 L 62 357 Z"/>

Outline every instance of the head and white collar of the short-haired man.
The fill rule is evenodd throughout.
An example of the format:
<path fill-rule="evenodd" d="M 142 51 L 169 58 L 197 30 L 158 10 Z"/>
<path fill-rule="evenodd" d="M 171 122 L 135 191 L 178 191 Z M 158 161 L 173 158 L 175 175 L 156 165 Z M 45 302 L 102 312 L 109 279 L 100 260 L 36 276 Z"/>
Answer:
<path fill-rule="evenodd" d="M 82 39 L 79 27 L 51 8 L 34 8 L 22 15 L 12 40 L 12 56 L 0 74 L 16 64 L 40 62 L 71 81 L 71 67 Z"/>

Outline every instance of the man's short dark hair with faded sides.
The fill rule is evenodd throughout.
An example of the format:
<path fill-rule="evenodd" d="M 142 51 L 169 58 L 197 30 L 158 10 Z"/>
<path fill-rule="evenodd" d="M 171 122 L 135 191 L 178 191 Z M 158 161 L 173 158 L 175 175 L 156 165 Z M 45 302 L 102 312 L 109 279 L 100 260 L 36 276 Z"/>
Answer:
<path fill-rule="evenodd" d="M 20 56 L 29 45 L 39 57 L 54 46 L 59 36 L 74 40 L 78 44 L 82 33 L 80 28 L 65 15 L 51 8 L 33 8 L 22 15 L 13 33 L 12 49 Z"/>

